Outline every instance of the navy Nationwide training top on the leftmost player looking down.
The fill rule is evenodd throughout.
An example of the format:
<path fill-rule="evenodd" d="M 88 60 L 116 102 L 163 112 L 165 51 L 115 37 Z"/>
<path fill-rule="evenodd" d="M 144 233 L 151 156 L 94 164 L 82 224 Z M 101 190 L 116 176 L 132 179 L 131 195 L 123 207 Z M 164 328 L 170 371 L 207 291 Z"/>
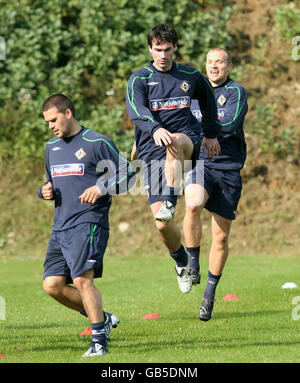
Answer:
<path fill-rule="evenodd" d="M 130 166 L 113 141 L 94 130 L 82 127 L 70 138 L 52 138 L 46 145 L 45 167 L 47 182 L 52 182 L 54 190 L 53 230 L 84 222 L 108 229 L 111 195 L 127 190 L 133 175 Z M 95 205 L 81 204 L 79 196 L 94 185 L 102 196 Z M 38 195 L 43 198 L 41 189 Z"/>

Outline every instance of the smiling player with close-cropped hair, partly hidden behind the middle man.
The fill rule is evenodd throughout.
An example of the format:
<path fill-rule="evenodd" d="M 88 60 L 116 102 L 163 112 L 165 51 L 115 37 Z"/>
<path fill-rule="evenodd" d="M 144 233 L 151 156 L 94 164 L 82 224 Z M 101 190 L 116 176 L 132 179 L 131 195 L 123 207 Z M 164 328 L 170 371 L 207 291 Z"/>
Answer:
<path fill-rule="evenodd" d="M 194 280 L 200 279 L 200 240 L 202 234 L 201 212 L 203 207 L 212 214 L 212 244 L 209 253 L 209 271 L 198 317 L 202 321 L 210 320 L 218 282 L 228 257 L 228 240 L 232 221 L 236 218 L 236 209 L 241 196 L 242 182 L 240 171 L 246 160 L 246 141 L 243 130 L 244 119 L 248 111 L 246 90 L 229 77 L 232 69 L 230 54 L 221 48 L 211 49 L 206 56 L 206 73 L 214 88 L 218 118 L 222 125 L 219 138 L 221 152 L 214 159 L 200 152 L 199 159 L 204 161 L 204 185 L 193 184 L 197 167 L 187 181 L 185 197 L 201 196 L 200 204 L 190 203 L 186 207 L 184 235 L 189 252 L 192 255 L 191 274 Z M 191 109 L 201 121 L 202 110 L 196 100 Z M 199 230 L 200 229 L 200 230 Z"/>

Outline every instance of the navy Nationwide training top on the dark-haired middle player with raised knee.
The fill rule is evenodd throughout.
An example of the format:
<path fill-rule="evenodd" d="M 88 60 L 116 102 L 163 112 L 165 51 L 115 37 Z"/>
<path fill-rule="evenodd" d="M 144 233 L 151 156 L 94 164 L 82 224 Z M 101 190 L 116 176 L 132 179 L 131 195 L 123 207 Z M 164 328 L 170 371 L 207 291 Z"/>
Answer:
<path fill-rule="evenodd" d="M 221 127 L 213 88 L 198 70 L 173 62 L 169 71 L 159 71 L 152 61 L 130 76 L 126 103 L 136 127 L 139 158 L 152 159 L 156 152 L 165 151 L 156 147 L 152 138 L 159 128 L 171 133 L 191 129 L 200 134 L 200 124 L 190 110 L 192 99 L 197 99 L 201 107 L 205 136 L 217 137 Z"/>

